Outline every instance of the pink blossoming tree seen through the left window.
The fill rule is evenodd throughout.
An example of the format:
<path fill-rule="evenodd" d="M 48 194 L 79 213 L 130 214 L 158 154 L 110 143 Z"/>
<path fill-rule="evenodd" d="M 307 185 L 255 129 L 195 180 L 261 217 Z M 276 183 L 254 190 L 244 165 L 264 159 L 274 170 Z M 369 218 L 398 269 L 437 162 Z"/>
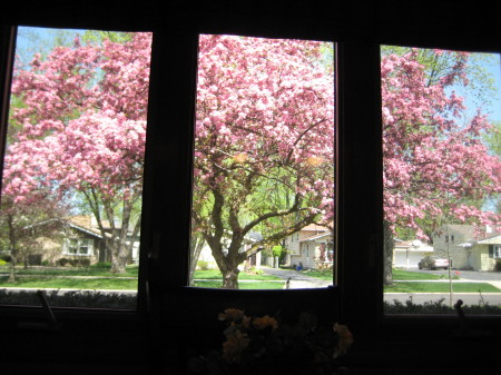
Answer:
<path fill-rule="evenodd" d="M 127 235 L 141 197 L 151 37 L 57 47 L 19 70 L 12 95 L 17 132 L 8 145 L 2 199 L 29 204 L 32 191 L 78 193 L 101 230 L 111 272 L 130 257 Z M 104 220 L 109 224 L 105 227 Z M 134 228 L 132 228 L 134 227 Z M 109 233 L 108 233 L 109 230 Z"/>

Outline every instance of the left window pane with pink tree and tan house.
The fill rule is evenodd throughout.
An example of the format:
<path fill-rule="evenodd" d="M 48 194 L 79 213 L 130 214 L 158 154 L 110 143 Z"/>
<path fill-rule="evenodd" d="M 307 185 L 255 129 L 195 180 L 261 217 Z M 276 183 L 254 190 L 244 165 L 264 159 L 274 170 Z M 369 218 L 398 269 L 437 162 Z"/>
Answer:
<path fill-rule="evenodd" d="M 39 304 L 22 287 L 52 305 L 136 307 L 150 45 L 150 33 L 18 29 L 1 303 Z"/>

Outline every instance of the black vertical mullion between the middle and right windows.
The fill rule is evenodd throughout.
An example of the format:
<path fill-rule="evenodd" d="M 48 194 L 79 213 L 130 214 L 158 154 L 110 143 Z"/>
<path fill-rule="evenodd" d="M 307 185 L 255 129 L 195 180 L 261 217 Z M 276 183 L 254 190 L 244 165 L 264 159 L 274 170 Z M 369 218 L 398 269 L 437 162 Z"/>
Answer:
<path fill-rule="evenodd" d="M 380 49 L 338 43 L 338 253 L 346 322 L 371 325 L 382 310 Z"/>

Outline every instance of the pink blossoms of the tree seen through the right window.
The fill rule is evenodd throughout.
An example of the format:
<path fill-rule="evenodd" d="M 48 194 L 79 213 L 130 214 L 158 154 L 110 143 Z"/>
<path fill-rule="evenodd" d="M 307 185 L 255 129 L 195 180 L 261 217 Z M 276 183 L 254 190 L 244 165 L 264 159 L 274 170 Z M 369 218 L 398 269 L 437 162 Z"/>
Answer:
<path fill-rule="evenodd" d="M 450 90 L 468 85 L 468 55 L 453 56 L 455 62 L 434 77 L 418 50 L 383 57 L 384 215 L 391 233 L 411 228 L 428 240 L 448 221 L 501 225 L 499 215 L 472 204 L 500 193 L 501 162 L 484 141 L 487 116 L 479 109 L 468 118 L 464 99 Z"/>

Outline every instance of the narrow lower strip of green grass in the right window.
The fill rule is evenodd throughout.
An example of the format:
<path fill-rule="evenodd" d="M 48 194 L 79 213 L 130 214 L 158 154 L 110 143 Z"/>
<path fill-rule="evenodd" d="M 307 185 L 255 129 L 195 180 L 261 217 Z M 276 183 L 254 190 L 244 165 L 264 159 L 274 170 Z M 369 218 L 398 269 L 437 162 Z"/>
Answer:
<path fill-rule="evenodd" d="M 454 293 L 500 293 L 501 290 L 488 283 L 452 283 Z M 385 286 L 385 293 L 449 293 L 449 283 L 402 282 Z"/>

